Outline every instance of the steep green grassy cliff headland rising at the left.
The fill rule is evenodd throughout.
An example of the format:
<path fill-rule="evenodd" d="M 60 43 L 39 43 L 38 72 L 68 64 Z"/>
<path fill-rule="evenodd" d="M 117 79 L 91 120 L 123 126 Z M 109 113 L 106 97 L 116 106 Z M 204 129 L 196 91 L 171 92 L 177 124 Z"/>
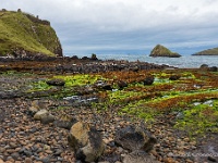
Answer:
<path fill-rule="evenodd" d="M 0 55 L 62 57 L 62 48 L 50 22 L 17 10 L 0 11 Z"/>

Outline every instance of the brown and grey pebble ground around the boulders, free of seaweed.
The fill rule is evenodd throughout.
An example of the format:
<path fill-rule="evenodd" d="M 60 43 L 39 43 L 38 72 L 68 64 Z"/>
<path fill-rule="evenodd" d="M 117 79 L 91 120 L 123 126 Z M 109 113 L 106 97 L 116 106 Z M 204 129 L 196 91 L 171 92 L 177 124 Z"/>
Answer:
<path fill-rule="evenodd" d="M 130 124 L 138 125 L 142 121 L 130 115 L 121 116 L 116 108 L 98 112 L 88 105 L 73 105 L 63 99 L 14 96 L 20 93 L 19 90 L 25 90 L 24 86 L 28 82 L 41 77 L 44 76 L 21 77 L 3 74 L 0 77 L 0 163 L 76 162 L 68 143 L 69 130 L 57 127 L 53 123 L 41 124 L 34 121 L 29 113 L 31 108 L 49 110 L 57 120 L 74 117 L 96 126 L 107 143 L 99 162 L 120 163 L 129 151 L 114 145 L 114 131 Z M 174 113 L 166 113 L 146 126 L 158 140 L 150 154 L 165 163 L 217 162 L 217 136 L 205 136 L 199 140 L 191 139 L 185 133 L 173 128 L 175 116 Z M 205 153 L 208 155 L 203 155 Z"/>

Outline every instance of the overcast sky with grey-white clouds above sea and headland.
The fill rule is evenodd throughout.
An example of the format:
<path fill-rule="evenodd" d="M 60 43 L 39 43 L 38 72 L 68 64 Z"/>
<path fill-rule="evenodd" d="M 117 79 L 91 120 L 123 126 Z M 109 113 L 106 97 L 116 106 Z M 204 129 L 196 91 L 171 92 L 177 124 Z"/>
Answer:
<path fill-rule="evenodd" d="M 160 43 L 180 54 L 218 47 L 218 0 L 1 0 L 48 20 L 64 55 L 149 54 Z"/>

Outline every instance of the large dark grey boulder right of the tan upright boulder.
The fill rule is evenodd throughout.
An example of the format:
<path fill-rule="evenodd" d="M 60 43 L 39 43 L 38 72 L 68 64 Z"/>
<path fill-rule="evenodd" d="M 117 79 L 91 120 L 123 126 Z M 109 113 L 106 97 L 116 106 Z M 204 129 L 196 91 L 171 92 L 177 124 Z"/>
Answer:
<path fill-rule="evenodd" d="M 116 133 L 114 141 L 118 146 L 131 151 L 143 150 L 150 151 L 157 142 L 148 131 L 142 126 L 128 126 Z"/>

